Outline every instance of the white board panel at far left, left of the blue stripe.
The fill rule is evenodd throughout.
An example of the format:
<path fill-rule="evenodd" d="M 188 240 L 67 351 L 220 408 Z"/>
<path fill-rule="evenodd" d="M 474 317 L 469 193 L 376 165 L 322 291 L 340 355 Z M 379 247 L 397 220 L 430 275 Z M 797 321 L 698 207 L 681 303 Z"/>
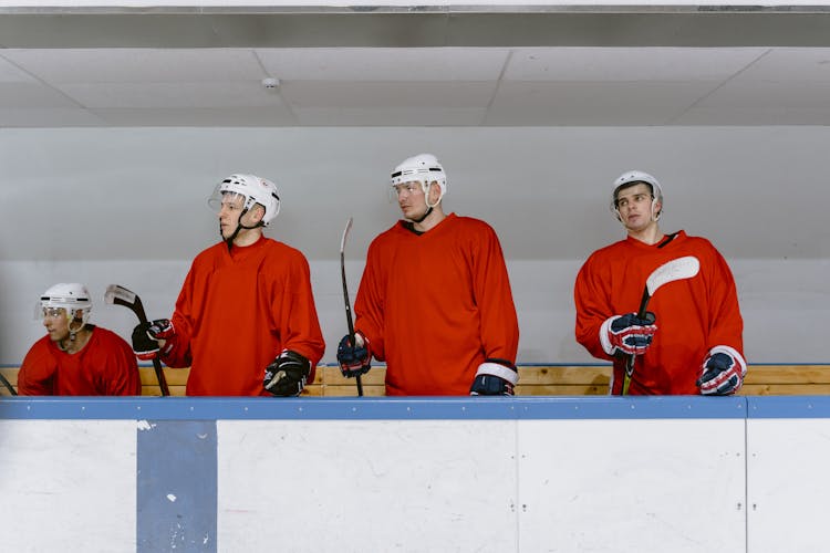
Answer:
<path fill-rule="evenodd" d="M 0 420 L 8 552 L 135 551 L 134 420 Z"/>

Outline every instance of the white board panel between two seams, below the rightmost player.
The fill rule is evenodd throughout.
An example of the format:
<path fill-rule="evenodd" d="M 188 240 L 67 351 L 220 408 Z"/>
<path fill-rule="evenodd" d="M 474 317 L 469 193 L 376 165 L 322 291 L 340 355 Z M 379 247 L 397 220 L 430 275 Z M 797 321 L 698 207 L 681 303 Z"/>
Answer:
<path fill-rule="evenodd" d="M 520 551 L 746 552 L 743 419 L 529 420 L 518 444 Z"/>

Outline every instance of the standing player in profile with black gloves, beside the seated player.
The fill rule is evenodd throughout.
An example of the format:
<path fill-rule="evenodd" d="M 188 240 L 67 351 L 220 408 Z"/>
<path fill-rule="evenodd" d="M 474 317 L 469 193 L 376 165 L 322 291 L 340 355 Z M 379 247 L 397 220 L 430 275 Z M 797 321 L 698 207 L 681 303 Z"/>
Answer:
<path fill-rule="evenodd" d="M 169 320 L 135 327 L 133 348 L 189 366 L 188 396 L 297 396 L 325 344 L 305 257 L 262 234 L 280 210 L 277 187 L 231 175 L 208 204 L 222 241 L 193 261 Z"/>

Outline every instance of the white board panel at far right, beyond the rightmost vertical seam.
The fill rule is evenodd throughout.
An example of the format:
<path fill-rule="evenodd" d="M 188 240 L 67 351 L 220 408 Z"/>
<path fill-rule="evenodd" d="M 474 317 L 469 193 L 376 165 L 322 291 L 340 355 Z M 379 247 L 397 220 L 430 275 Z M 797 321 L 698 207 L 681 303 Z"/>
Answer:
<path fill-rule="evenodd" d="M 827 551 L 830 419 L 747 421 L 751 553 Z"/>

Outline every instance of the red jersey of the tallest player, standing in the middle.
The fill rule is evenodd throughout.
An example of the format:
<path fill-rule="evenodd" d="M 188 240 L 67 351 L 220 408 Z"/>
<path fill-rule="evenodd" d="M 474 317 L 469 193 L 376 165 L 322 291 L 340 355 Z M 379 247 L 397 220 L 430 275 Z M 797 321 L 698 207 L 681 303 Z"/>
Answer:
<path fill-rule="evenodd" d="M 386 394 L 467 395 L 485 358 L 516 362 L 519 324 L 496 232 L 447 216 L 416 234 L 398 221 L 369 247 L 355 328 L 386 362 Z"/>

